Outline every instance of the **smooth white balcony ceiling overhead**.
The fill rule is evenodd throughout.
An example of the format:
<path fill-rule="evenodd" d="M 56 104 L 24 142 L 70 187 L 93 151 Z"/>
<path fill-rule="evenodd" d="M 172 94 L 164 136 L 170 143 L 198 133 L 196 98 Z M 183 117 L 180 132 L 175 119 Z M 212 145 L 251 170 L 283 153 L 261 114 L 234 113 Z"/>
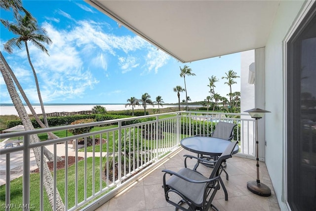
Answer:
<path fill-rule="evenodd" d="M 264 47 L 279 0 L 85 0 L 181 62 Z"/>

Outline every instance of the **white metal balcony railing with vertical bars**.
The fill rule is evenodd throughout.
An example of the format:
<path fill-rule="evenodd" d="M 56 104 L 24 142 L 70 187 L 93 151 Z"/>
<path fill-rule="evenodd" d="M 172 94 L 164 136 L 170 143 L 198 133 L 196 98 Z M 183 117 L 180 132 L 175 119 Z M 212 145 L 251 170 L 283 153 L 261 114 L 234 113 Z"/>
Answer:
<path fill-rule="evenodd" d="M 218 121 L 234 122 L 238 125 L 234 131 L 234 139 L 240 146 L 238 154 L 254 158 L 253 119 L 240 118 L 240 114 L 210 112 L 173 112 L 168 113 L 170 117 L 161 119 L 162 115 L 166 114 L 0 134 L 1 139 L 23 136 L 23 145 L 0 150 L 1 157 L 5 155 L 6 172 L 5 202 L 1 201 L 0 204 L 5 204 L 5 210 L 13 209 L 13 204 L 15 207 L 20 204 L 35 210 L 50 209 L 43 188 L 45 177 L 42 168 L 37 180 L 33 179 L 30 173 L 33 150 L 39 149 L 40 158 L 44 158 L 44 147 L 49 148 L 54 154 L 54 167 L 51 172 L 54 199 L 58 191 L 66 210 L 69 211 L 85 210 L 93 207 L 96 202 L 103 203 L 109 200 L 155 168 L 159 161 L 167 159 L 180 149 L 182 138 L 208 134 L 213 131 Z M 33 134 L 100 125 L 108 127 L 80 135 L 31 143 Z M 96 139 L 99 139 L 98 145 L 95 144 Z M 79 141 L 83 143 L 83 148 L 78 150 Z M 91 146 L 88 146 L 91 142 Z M 10 186 L 13 176 L 10 162 L 13 162 L 17 153 L 23 154 L 23 201 L 21 202 L 12 199 L 15 197 Z M 70 154 L 76 160 L 72 167 L 68 166 Z M 64 156 L 65 168 L 57 170 L 57 158 L 60 155 Z M 80 161 L 81 157 L 82 161 Z M 43 165 L 45 165 L 44 159 L 40 159 L 38 166 Z M 30 182 L 31 177 L 32 182 Z M 34 187 L 40 188 L 38 197 L 31 197 Z M 22 187 L 20 189 L 22 191 Z M 57 210 L 56 203 L 54 204 L 52 210 Z M 3 206 L 1 209 L 4 209 Z"/>

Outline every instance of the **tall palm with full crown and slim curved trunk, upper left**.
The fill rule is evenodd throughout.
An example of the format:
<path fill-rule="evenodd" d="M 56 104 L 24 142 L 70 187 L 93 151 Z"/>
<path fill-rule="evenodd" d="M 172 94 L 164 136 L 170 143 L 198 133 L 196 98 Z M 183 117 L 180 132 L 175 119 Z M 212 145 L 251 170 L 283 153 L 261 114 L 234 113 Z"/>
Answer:
<path fill-rule="evenodd" d="M 16 19 L 16 23 L 11 23 L 7 20 L 1 19 L 1 23 L 4 25 L 5 28 L 7 28 L 10 32 L 12 32 L 15 35 L 18 35 L 18 37 L 12 38 L 5 42 L 4 44 L 4 50 L 8 53 L 13 52 L 13 46 L 18 46 L 20 49 L 22 45 L 25 45 L 28 60 L 30 63 L 30 66 L 33 71 L 35 84 L 39 96 L 40 101 L 40 107 L 43 115 L 44 124 L 46 127 L 48 127 L 47 117 L 44 110 L 44 104 L 41 98 L 40 94 L 40 85 L 37 78 L 37 74 L 35 72 L 35 69 L 33 67 L 33 64 L 31 62 L 31 57 L 29 53 L 28 48 L 28 41 L 31 41 L 36 47 L 38 47 L 40 50 L 42 50 L 44 53 L 48 55 L 48 51 L 45 48 L 45 46 L 41 43 L 44 42 L 46 44 L 50 44 L 51 40 L 48 36 L 46 36 L 46 31 L 43 28 L 39 28 L 37 21 L 30 15 L 26 14 L 24 16 L 20 15 L 19 13 L 14 13 L 14 17 Z"/>

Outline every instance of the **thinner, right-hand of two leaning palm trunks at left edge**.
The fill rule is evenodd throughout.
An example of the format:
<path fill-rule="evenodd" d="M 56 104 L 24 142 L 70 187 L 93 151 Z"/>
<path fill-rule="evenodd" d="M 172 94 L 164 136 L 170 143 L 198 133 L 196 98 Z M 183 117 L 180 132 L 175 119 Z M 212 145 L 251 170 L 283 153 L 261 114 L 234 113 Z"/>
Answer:
<path fill-rule="evenodd" d="M 1 51 L 0 51 L 0 58 L 1 58 L 1 64 L 2 64 L 2 62 L 3 62 L 4 67 L 5 67 L 6 70 L 8 71 L 9 75 L 12 77 L 12 79 L 13 79 L 14 83 L 16 84 L 16 86 L 18 87 L 18 89 L 19 89 L 19 91 L 20 91 L 20 93 L 21 93 L 21 95 L 22 95 L 24 101 L 26 102 L 26 104 L 28 105 L 30 111 L 32 112 L 33 117 L 34 117 L 34 118 L 36 119 L 36 121 L 39 123 L 40 127 L 45 128 L 46 126 L 40 121 L 39 116 L 36 114 L 36 112 L 35 112 L 33 106 L 31 105 L 31 103 L 30 103 L 29 99 L 27 98 L 27 96 L 26 96 L 26 94 L 25 94 L 25 92 L 24 92 L 24 90 L 23 90 L 21 84 L 19 83 L 19 81 L 18 81 L 17 78 L 15 77 L 15 75 L 14 75 L 13 71 L 11 70 L 10 66 L 9 66 L 9 65 L 7 64 L 7 62 L 5 61 L 5 59 L 4 59 L 4 57 L 3 57 L 2 53 L 1 53 Z M 47 136 L 48 136 L 48 139 L 59 138 L 57 135 L 55 135 L 55 134 L 52 133 L 52 132 L 48 132 L 48 133 L 47 133 Z M 49 150 L 47 150 L 46 147 L 44 147 L 44 155 L 45 155 L 45 157 L 46 157 L 49 161 L 53 161 L 53 159 L 54 159 L 54 154 L 51 153 Z M 57 156 L 57 161 L 62 161 L 62 160 L 63 160 L 62 157 Z"/>

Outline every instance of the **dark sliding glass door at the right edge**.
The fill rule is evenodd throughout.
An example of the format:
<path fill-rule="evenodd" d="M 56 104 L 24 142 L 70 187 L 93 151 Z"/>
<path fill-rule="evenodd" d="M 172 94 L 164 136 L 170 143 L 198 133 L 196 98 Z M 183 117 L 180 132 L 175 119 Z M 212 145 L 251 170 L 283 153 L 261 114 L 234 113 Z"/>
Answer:
<path fill-rule="evenodd" d="M 287 201 L 316 210 L 316 3 L 287 43 Z"/>

